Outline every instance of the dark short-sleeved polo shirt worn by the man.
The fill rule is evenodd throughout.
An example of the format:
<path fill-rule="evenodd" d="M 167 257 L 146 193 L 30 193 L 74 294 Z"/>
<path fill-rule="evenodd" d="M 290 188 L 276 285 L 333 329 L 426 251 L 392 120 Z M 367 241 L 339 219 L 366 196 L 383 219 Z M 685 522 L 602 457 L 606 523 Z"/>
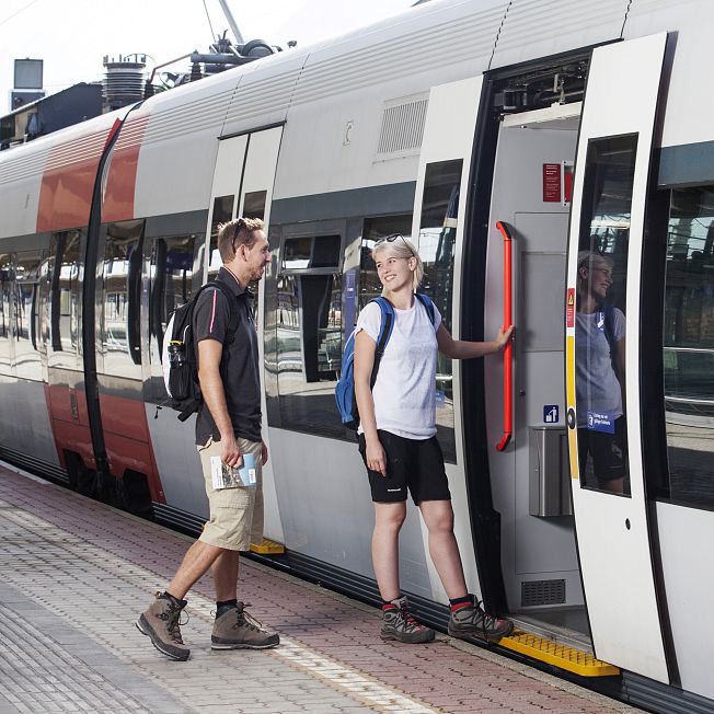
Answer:
<path fill-rule="evenodd" d="M 194 336 L 196 352 L 201 339 L 216 339 L 223 345 L 220 360 L 220 376 L 223 381 L 226 405 L 235 436 L 250 441 L 261 440 L 261 379 L 258 375 L 257 332 L 253 321 L 252 296 L 224 267 L 218 272 L 217 280 L 226 284 L 235 296 L 231 306 L 233 324 L 237 324 L 233 341 L 226 344 L 229 331 L 231 307 L 228 298 L 217 288 L 206 288 L 199 296 L 194 310 Z M 198 359 L 198 355 L 196 355 Z M 203 446 L 208 437 L 220 440 L 220 434 L 207 404 L 204 402 L 196 421 L 196 444 Z"/>

